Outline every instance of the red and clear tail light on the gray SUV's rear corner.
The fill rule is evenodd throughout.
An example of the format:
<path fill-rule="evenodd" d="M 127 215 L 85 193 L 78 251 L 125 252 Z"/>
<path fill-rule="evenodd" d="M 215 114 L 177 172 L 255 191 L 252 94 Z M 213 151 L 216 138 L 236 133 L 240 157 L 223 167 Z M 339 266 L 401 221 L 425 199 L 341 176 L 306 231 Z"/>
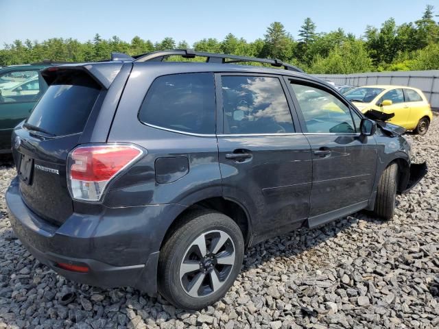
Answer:
<path fill-rule="evenodd" d="M 134 145 L 76 147 L 67 161 L 71 197 L 83 201 L 99 201 L 110 180 L 142 154 L 143 151 Z"/>

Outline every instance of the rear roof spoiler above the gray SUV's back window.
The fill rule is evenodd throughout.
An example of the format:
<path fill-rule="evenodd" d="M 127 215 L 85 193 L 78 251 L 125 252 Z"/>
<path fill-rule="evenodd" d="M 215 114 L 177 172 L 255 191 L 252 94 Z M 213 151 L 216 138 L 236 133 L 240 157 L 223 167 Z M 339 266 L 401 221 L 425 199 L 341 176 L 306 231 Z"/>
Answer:
<path fill-rule="evenodd" d="M 50 86 L 54 83 L 57 75 L 60 73 L 66 73 L 67 71 L 83 71 L 90 75 L 97 84 L 102 86 L 102 88 L 108 89 L 113 80 L 115 80 L 116 75 L 121 71 L 123 65 L 132 64 L 123 62 L 96 62 L 50 66 L 41 71 L 41 75 Z"/>

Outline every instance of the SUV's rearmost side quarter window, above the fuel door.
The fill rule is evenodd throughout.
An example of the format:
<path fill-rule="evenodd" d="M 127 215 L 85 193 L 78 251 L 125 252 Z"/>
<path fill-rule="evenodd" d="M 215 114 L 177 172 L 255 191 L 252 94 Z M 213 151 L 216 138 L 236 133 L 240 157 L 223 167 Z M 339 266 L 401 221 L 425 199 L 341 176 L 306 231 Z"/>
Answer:
<path fill-rule="evenodd" d="M 139 120 L 181 132 L 215 134 L 213 73 L 158 77 L 146 94 Z"/>

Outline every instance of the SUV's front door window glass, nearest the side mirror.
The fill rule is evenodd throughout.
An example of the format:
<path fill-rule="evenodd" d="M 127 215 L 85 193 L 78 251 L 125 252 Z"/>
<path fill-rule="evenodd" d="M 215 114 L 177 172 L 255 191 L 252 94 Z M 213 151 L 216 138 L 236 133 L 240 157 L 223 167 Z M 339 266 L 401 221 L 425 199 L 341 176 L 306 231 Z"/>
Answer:
<path fill-rule="evenodd" d="M 291 84 L 311 133 L 353 133 L 351 111 L 337 97 L 320 88 Z"/>

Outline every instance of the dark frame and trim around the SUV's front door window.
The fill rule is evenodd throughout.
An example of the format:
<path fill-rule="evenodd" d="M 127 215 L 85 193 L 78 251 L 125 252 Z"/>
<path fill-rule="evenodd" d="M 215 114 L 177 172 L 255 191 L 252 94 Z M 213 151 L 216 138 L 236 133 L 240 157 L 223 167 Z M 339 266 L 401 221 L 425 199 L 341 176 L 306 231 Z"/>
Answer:
<path fill-rule="evenodd" d="M 311 88 L 317 88 L 317 89 L 323 90 L 323 91 L 329 93 L 330 95 L 332 95 L 333 97 L 335 97 L 336 99 L 338 99 L 339 101 L 341 101 L 344 104 L 344 106 L 346 106 L 348 108 L 349 114 L 351 114 L 351 119 L 353 122 L 353 126 L 355 128 L 355 131 L 357 131 L 357 126 L 355 125 L 355 120 L 353 118 L 353 112 L 358 114 L 358 116 L 361 119 L 364 119 L 364 115 L 363 115 L 363 113 L 358 111 L 354 106 L 352 106 L 352 103 L 350 101 L 348 101 L 347 99 L 345 99 L 343 97 L 343 95 L 341 95 L 340 93 L 339 93 L 340 95 L 337 95 L 337 92 L 335 92 L 335 90 L 328 88 L 324 84 L 320 84 L 319 82 L 316 82 L 316 81 L 302 79 L 300 77 L 284 76 L 284 78 L 285 78 L 285 83 L 288 86 L 289 93 L 291 94 L 292 100 L 294 101 L 294 107 L 296 108 L 296 112 L 297 112 L 297 115 L 299 117 L 300 127 L 301 127 L 303 134 L 305 134 L 305 135 L 340 135 L 340 136 L 359 136 L 359 135 L 361 135 L 361 133 L 358 133 L 358 132 L 308 132 L 308 128 L 307 128 L 307 125 L 305 123 L 305 117 L 303 117 L 302 109 L 300 108 L 300 104 L 299 104 L 298 99 L 296 97 L 296 93 L 294 93 L 294 90 L 291 86 L 292 83 L 296 83 L 296 84 L 300 84 L 302 86 L 309 86 Z M 342 97 L 340 97 L 340 96 L 342 96 Z"/>

